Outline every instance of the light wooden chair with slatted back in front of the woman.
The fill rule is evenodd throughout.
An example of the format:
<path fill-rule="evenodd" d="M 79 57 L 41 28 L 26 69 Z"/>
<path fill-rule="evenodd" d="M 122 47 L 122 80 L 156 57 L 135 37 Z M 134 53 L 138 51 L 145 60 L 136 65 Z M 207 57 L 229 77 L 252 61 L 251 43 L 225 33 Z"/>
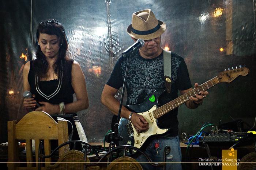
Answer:
<path fill-rule="evenodd" d="M 26 166 L 20 167 L 18 140 L 26 140 Z M 32 139 L 35 140 L 35 161 L 33 161 Z M 38 147 L 44 140 L 45 154 L 51 153 L 50 140 L 58 140 L 59 145 L 68 141 L 67 121 L 58 123 L 46 112 L 33 111 L 26 114 L 18 123 L 8 121 L 8 169 L 36 170 L 38 169 Z M 68 146 L 59 150 L 59 155 L 68 151 Z M 46 169 L 51 164 L 51 158 L 45 159 Z"/>

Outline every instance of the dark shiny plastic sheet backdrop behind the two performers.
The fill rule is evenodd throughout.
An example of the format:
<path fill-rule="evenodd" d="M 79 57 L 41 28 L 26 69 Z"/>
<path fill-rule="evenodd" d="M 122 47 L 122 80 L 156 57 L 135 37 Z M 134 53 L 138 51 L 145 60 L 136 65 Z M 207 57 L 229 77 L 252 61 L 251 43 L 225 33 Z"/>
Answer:
<path fill-rule="evenodd" d="M 245 64 L 250 70 L 247 76 L 209 89 L 203 105 L 196 110 L 180 106 L 180 135 L 195 135 L 204 123 L 218 126 L 220 120 L 227 123 L 242 119 L 253 126 L 254 6 L 253 0 L 2 0 L 0 143 L 7 142 L 7 121 L 19 121 L 26 114 L 23 66 L 34 59 L 37 25 L 52 18 L 64 25 L 68 54 L 79 62 L 86 78 L 90 106 L 78 113 L 80 122 L 89 142 L 103 142 L 111 130 L 112 113 L 101 104 L 101 92 L 113 64 L 134 43 L 126 32 L 132 13 L 147 8 L 166 23 L 161 46 L 184 57 L 192 85 L 202 84 L 227 68 Z M 120 96 L 121 90 L 117 98 Z"/>

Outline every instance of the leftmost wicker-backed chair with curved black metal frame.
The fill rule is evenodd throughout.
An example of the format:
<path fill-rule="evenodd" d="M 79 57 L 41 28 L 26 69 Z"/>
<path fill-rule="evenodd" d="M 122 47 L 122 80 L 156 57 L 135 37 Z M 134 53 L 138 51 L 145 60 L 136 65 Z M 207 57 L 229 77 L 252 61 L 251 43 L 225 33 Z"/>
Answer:
<path fill-rule="evenodd" d="M 38 154 L 38 170 L 41 170 L 41 159 L 42 158 L 50 158 L 54 155 L 54 153 L 60 149 L 61 147 L 73 143 L 73 150 L 68 151 L 64 155 L 61 155 L 58 159 L 58 161 L 54 165 L 50 165 L 47 167 L 47 170 L 84 170 L 86 169 L 85 165 L 86 163 L 90 163 L 90 160 L 88 157 L 86 157 L 87 154 L 90 154 L 90 150 L 93 150 L 95 155 L 98 158 L 101 158 L 102 156 L 99 156 L 97 152 L 91 147 L 88 143 L 85 143 L 83 141 L 69 141 L 61 144 L 56 149 L 53 150 L 53 152 L 50 155 L 44 155 L 42 154 L 43 146 L 42 142 L 39 145 L 39 154 Z M 87 149 L 82 153 L 81 151 L 74 150 L 76 143 L 82 143 L 87 147 Z M 89 150 L 89 152 L 87 152 Z M 99 166 L 90 166 L 87 168 L 87 170 L 99 170 Z"/>

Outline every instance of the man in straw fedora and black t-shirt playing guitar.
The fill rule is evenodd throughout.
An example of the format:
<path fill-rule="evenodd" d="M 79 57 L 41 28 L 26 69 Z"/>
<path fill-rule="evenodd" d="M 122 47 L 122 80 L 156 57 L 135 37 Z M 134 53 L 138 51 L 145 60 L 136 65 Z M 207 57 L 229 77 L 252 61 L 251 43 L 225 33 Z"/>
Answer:
<path fill-rule="evenodd" d="M 128 26 L 127 32 L 136 42 L 138 39 L 143 39 L 145 44 L 139 48 L 131 56 L 131 62 L 128 69 L 126 90 L 127 90 L 127 105 L 140 104 L 143 105 L 145 102 L 154 102 L 155 100 L 160 101 L 161 104 L 172 101 L 178 97 L 178 90 L 181 95 L 192 90 L 192 84 L 189 79 L 188 69 L 184 62 L 184 59 L 174 52 L 168 52 L 160 47 L 161 35 L 166 30 L 166 24 L 162 21 L 157 20 L 151 9 L 145 9 L 133 13 L 132 24 Z M 167 55 L 166 55 L 167 54 Z M 168 82 L 172 83 L 167 85 L 164 71 L 164 56 L 169 55 L 169 62 L 167 67 L 171 68 Z M 165 60 L 166 61 L 166 60 Z M 168 65 L 169 63 L 169 65 Z M 112 74 L 106 82 L 106 85 L 102 91 L 101 102 L 109 108 L 113 114 L 117 115 L 119 110 L 120 102 L 115 98 L 115 95 L 120 87 L 123 86 L 124 75 L 127 66 L 127 58 L 123 56 L 118 59 Z M 166 66 L 165 66 L 166 67 Z M 168 76 L 167 76 L 168 77 Z M 195 84 L 197 87 L 198 84 Z M 161 95 L 161 99 L 150 98 L 151 94 L 155 90 L 166 89 Z M 190 97 L 186 100 L 185 105 L 194 109 L 200 106 L 208 94 L 207 91 L 200 91 L 200 94 L 196 94 L 195 97 Z M 150 108 L 149 108 L 150 109 Z M 148 109 L 148 110 L 149 110 Z M 145 111 L 143 111 L 145 112 Z M 160 116 L 158 126 L 160 128 L 169 128 L 164 135 L 154 135 L 153 137 L 147 138 L 141 149 L 144 149 L 153 162 L 163 161 L 163 150 L 166 145 L 171 147 L 170 154 L 167 156 L 166 169 L 182 169 L 181 163 L 181 150 L 180 141 L 178 138 L 178 119 L 177 119 L 177 108 L 173 108 L 172 111 L 168 111 L 166 114 Z M 131 121 L 134 133 L 146 133 L 151 131 L 149 121 L 142 114 L 129 111 L 126 107 L 121 109 L 121 117 Z M 126 145 L 126 144 L 125 144 Z M 143 169 L 153 169 L 146 158 L 143 155 L 136 158 L 138 162 L 141 162 Z M 171 163 L 176 162 L 176 163 Z"/>

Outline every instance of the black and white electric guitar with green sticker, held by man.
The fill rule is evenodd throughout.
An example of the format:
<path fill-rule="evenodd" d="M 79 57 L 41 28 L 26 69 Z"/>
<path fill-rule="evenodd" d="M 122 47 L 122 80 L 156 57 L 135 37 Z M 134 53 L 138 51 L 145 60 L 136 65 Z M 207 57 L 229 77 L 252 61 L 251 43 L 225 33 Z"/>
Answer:
<path fill-rule="evenodd" d="M 166 113 L 172 111 L 174 108 L 181 106 L 189 100 L 190 96 L 195 96 L 196 94 L 200 94 L 200 91 L 206 91 L 209 88 L 215 86 L 221 82 L 231 82 L 237 76 L 242 75 L 246 76 L 249 73 L 249 69 L 246 67 L 243 68 L 236 68 L 234 70 L 227 70 L 221 72 L 215 78 L 201 84 L 197 88 L 187 92 L 184 95 L 172 100 L 169 103 L 164 104 L 163 106 L 159 106 L 159 97 L 161 98 L 161 94 L 165 92 L 163 89 L 158 89 L 154 91 L 143 103 L 135 104 L 135 105 L 128 105 L 125 106 L 128 110 L 138 113 L 139 115 L 143 115 L 143 117 L 149 123 L 148 131 L 144 133 L 137 133 L 136 129 L 134 128 L 132 123 L 129 123 L 127 119 L 121 118 L 119 122 L 118 132 L 120 136 L 123 137 L 123 141 L 120 141 L 120 145 L 131 145 L 137 148 L 143 146 L 143 144 L 147 141 L 147 139 L 154 135 L 163 135 L 169 129 L 161 129 L 158 127 L 157 119 Z M 113 117 L 113 120 L 116 119 Z M 113 122 L 113 121 L 112 121 Z M 114 122 L 116 123 L 116 122 Z M 135 153 L 136 151 L 133 150 Z"/>

